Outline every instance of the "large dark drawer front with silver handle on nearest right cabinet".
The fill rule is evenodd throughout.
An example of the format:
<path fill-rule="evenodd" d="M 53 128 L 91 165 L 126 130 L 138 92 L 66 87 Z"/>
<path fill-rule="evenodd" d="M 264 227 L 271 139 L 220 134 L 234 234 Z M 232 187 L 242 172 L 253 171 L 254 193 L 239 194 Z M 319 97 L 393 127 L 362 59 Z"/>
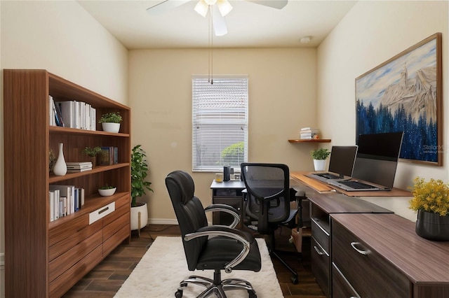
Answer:
<path fill-rule="evenodd" d="M 332 231 L 333 262 L 361 297 L 412 297 L 410 281 L 396 267 L 335 220 Z"/>

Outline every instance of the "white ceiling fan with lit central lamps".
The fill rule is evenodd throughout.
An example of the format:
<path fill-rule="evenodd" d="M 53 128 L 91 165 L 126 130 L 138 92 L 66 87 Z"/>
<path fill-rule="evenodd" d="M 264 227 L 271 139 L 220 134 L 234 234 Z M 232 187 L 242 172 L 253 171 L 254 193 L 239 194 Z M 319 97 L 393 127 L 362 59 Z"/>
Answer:
<path fill-rule="evenodd" d="M 159 14 L 181 6 L 192 0 L 164 0 L 155 6 L 147 8 L 148 13 Z M 263 6 L 269 6 L 272 8 L 281 9 L 287 5 L 288 0 L 245 0 L 248 2 L 253 2 Z M 210 9 L 209 9 L 210 8 Z M 232 5 L 228 0 L 199 0 L 196 3 L 194 10 L 206 17 L 208 10 L 212 14 L 213 19 L 213 29 L 215 36 L 223 36 L 227 34 L 227 25 L 225 20 L 225 15 L 227 15 L 232 10 Z"/>

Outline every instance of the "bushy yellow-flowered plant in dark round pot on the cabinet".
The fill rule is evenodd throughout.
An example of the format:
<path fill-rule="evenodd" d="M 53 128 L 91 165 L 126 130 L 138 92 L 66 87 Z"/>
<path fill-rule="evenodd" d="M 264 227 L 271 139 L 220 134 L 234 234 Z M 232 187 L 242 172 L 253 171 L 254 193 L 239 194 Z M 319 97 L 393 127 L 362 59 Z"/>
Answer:
<path fill-rule="evenodd" d="M 410 209 L 417 211 L 415 232 L 422 238 L 449 241 L 449 185 L 443 180 L 413 180 Z"/>

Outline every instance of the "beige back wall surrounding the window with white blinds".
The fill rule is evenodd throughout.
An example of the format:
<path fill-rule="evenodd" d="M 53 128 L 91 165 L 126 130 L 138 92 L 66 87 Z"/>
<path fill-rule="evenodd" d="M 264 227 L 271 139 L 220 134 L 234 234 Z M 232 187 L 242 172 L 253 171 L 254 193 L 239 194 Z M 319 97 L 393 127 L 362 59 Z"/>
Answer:
<path fill-rule="evenodd" d="M 154 193 L 151 222 L 175 219 L 164 178 L 170 171 L 192 173 L 192 74 L 208 73 L 207 50 L 130 50 L 129 98 L 133 145 L 142 144 Z M 316 120 L 315 49 L 216 49 L 216 74 L 249 76 L 251 162 L 282 162 L 292 170 L 313 169 L 311 144 L 291 144 L 300 127 Z M 196 195 L 210 204 L 213 173 L 193 173 Z"/>

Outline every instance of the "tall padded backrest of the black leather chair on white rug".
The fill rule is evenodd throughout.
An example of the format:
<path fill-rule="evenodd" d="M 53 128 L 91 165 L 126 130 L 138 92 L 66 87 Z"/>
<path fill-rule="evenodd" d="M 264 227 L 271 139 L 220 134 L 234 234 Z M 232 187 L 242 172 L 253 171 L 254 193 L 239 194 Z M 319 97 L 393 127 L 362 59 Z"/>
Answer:
<path fill-rule="evenodd" d="M 199 228 L 208 225 L 203 204 L 194 195 L 195 185 L 192 176 L 184 171 L 173 171 L 166 177 L 166 187 L 180 226 L 182 239 L 186 234 L 196 232 Z M 207 236 L 203 236 L 182 241 L 189 270 L 193 271 L 196 268 L 207 239 Z"/>

